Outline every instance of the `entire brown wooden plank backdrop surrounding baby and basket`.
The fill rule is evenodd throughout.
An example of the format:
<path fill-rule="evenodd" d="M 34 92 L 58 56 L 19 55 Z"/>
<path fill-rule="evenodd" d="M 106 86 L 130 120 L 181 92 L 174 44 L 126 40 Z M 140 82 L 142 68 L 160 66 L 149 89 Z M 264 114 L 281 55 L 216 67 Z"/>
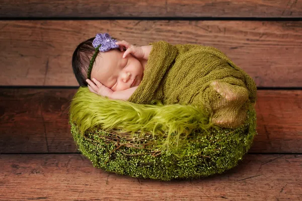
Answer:
<path fill-rule="evenodd" d="M 302 1 L 0 2 L 0 200 L 301 200 Z M 136 45 L 214 46 L 258 87 L 254 145 L 239 166 L 161 182 L 108 173 L 77 148 L 71 55 L 109 32 Z"/>

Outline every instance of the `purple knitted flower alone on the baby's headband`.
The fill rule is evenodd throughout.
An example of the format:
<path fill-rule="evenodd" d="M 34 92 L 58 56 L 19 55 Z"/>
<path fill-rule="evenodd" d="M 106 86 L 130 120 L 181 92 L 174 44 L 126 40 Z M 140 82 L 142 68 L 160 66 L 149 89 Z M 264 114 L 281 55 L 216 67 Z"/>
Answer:
<path fill-rule="evenodd" d="M 99 45 L 101 45 L 99 50 L 101 52 L 105 52 L 110 49 L 119 48 L 119 46 L 117 44 L 115 44 L 115 42 L 116 42 L 116 40 L 111 38 L 108 33 L 104 33 L 104 34 L 99 33 L 96 35 L 96 38 L 93 40 L 92 45 L 95 48 L 97 48 Z"/>

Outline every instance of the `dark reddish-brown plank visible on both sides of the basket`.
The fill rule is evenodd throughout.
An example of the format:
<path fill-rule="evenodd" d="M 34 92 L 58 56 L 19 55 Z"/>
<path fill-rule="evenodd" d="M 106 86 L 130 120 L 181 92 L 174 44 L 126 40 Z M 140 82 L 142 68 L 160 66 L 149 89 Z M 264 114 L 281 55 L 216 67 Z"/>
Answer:
<path fill-rule="evenodd" d="M 68 106 L 76 89 L 0 89 L 0 153 L 75 153 Z M 302 153 L 302 91 L 258 90 L 249 153 Z"/>

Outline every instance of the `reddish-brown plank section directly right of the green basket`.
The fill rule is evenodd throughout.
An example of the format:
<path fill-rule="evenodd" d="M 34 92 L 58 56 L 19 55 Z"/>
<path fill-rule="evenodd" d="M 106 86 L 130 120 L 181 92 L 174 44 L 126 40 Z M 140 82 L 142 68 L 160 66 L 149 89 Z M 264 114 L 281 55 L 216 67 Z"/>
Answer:
<path fill-rule="evenodd" d="M 302 149 L 302 91 L 257 92 L 257 132 L 250 152 L 296 152 Z M 292 141 L 292 139 L 295 139 Z M 298 149 L 292 149 L 293 147 Z M 289 151 L 291 150 L 291 151 Z"/>

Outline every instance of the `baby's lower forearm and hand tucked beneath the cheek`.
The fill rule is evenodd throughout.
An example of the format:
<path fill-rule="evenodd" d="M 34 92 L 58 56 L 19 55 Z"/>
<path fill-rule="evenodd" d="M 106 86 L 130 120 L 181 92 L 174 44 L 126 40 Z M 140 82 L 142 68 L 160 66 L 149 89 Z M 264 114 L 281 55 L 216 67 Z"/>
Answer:
<path fill-rule="evenodd" d="M 86 82 L 89 84 L 89 90 L 95 94 L 107 96 L 110 99 L 128 100 L 138 87 L 132 87 L 123 91 L 112 91 L 108 87 L 102 85 L 102 83 L 100 83 L 98 80 L 94 78 L 92 80 L 94 83 L 89 79 L 86 80 Z"/>

